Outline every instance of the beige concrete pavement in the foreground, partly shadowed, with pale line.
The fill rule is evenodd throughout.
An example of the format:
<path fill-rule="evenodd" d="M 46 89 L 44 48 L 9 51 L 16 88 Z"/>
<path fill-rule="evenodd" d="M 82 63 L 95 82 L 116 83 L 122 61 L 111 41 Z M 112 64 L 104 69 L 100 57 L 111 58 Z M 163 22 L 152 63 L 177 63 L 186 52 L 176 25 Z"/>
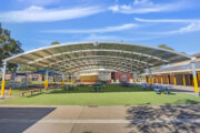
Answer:
<path fill-rule="evenodd" d="M 199 111 L 200 104 L 3 106 L 0 129 L 3 133 L 199 133 Z"/>

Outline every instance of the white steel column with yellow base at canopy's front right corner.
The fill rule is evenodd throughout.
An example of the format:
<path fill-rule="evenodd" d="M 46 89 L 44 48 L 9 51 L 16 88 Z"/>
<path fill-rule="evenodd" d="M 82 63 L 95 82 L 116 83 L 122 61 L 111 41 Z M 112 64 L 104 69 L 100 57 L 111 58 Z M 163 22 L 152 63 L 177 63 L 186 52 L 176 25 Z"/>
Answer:
<path fill-rule="evenodd" d="M 196 95 L 200 96 L 199 86 L 198 86 L 198 79 L 197 79 L 197 72 L 196 72 L 196 58 L 191 59 L 191 69 L 192 69 L 192 74 L 193 74 L 193 84 L 194 84 Z"/>

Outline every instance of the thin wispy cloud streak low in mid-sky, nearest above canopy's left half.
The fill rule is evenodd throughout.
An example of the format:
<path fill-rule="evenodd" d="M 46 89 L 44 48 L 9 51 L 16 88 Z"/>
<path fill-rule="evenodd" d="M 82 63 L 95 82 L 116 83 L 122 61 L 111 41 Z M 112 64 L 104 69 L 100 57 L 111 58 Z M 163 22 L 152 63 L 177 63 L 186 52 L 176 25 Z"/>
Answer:
<path fill-rule="evenodd" d="M 103 33 L 103 32 L 114 32 L 114 31 L 122 31 L 129 30 L 132 28 L 138 28 L 138 24 L 134 23 L 126 23 L 118 27 L 106 27 L 101 29 L 86 29 L 86 30 L 46 30 L 43 32 L 48 33 Z"/>

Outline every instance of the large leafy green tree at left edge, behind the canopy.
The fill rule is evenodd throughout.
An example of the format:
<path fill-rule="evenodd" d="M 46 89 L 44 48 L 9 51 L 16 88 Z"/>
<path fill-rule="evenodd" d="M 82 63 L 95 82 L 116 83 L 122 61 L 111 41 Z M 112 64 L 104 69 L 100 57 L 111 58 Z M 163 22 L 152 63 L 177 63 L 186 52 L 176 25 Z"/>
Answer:
<path fill-rule="evenodd" d="M 2 68 L 3 60 L 22 53 L 21 43 L 10 37 L 10 31 L 1 28 L 0 23 L 0 68 Z M 7 69 L 14 73 L 18 69 L 18 64 L 8 63 Z"/>

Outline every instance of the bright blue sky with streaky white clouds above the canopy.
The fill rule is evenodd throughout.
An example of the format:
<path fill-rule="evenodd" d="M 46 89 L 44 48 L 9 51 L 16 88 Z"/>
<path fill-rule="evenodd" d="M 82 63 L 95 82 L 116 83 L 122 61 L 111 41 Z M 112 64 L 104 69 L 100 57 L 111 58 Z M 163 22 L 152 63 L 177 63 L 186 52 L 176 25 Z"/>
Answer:
<path fill-rule="evenodd" d="M 199 53 L 199 0 L 1 0 L 0 22 L 28 51 L 52 41 L 167 44 Z"/>

